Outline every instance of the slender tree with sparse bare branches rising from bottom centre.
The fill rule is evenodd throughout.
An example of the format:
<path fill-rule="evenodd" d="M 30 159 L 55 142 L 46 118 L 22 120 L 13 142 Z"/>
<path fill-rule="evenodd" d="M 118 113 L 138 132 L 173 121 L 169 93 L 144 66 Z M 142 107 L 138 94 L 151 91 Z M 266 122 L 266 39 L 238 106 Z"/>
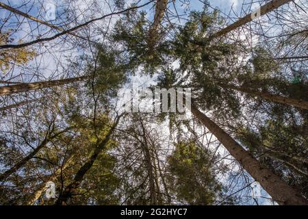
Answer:
<path fill-rule="evenodd" d="M 138 127 L 136 127 L 138 124 Z M 164 176 L 164 163 L 159 158 L 157 131 L 149 127 L 148 116 L 127 116 L 127 125 L 120 130 L 119 172 L 123 183 L 123 203 L 127 205 L 162 205 L 170 203 L 169 188 Z"/>

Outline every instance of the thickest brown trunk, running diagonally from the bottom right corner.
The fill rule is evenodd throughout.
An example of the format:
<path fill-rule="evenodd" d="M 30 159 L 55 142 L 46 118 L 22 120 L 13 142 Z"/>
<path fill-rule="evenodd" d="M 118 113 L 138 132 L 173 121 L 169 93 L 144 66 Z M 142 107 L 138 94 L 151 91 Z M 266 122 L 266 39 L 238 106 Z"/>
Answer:
<path fill-rule="evenodd" d="M 308 201 L 298 192 L 282 181 L 272 170 L 262 166 L 248 151 L 245 151 L 238 142 L 235 142 L 228 133 L 216 123 L 200 112 L 194 105 L 192 114 L 216 136 L 229 153 L 242 165 L 242 167 L 258 181 L 279 205 L 308 205 Z"/>

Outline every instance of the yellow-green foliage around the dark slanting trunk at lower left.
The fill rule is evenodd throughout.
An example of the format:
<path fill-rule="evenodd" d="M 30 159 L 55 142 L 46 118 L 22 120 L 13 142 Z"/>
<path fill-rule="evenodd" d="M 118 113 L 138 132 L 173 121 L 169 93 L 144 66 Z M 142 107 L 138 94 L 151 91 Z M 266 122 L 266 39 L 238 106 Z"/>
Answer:
<path fill-rule="evenodd" d="M 110 131 L 110 118 L 106 114 L 97 115 L 95 120 L 85 118 L 80 114 L 75 114 L 70 121 L 75 125 L 76 131 L 73 136 L 68 135 L 68 149 L 74 156 L 75 163 L 69 163 L 69 168 L 64 170 L 65 184 L 68 185 L 79 168 L 92 155 L 107 133 Z M 61 144 L 61 142 L 55 142 Z M 73 149 L 71 149 L 71 146 Z M 119 202 L 119 196 L 116 190 L 120 179 L 114 174 L 113 169 L 117 159 L 110 155 L 108 151 L 117 146 L 114 140 L 110 140 L 105 149 L 99 154 L 92 168 L 86 173 L 81 185 L 77 188 L 77 194 L 70 199 L 70 205 L 116 205 Z M 44 153 L 45 155 L 47 153 Z M 68 155 L 67 155 L 68 156 Z M 77 158 L 78 157 L 78 158 Z M 55 182 L 57 188 L 61 188 L 60 179 Z M 60 192 L 60 191 L 59 191 Z"/>

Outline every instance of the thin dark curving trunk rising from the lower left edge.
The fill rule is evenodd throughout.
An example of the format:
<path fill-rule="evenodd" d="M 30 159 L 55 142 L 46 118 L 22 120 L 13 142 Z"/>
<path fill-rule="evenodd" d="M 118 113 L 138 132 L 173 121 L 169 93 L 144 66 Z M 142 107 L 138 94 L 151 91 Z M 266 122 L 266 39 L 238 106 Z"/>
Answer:
<path fill-rule="evenodd" d="M 72 129 L 72 127 L 69 127 L 67 129 L 64 129 L 63 131 L 60 131 L 58 133 L 55 133 L 53 136 L 47 136 L 46 138 L 44 138 L 44 140 L 40 143 L 39 146 L 36 147 L 36 149 L 34 149 L 34 151 L 32 151 L 31 153 L 29 153 L 29 155 L 27 155 L 25 158 L 23 158 L 20 162 L 18 162 L 17 164 L 15 164 L 12 168 L 10 168 L 9 170 L 6 170 L 5 172 L 3 172 L 3 174 L 0 175 L 0 181 L 4 181 L 5 179 L 8 179 L 8 177 L 10 177 L 10 175 L 12 175 L 13 172 L 16 172 L 17 170 L 19 170 L 21 167 L 23 167 L 30 159 L 32 159 L 37 153 L 38 151 L 40 151 L 40 149 L 42 149 L 48 142 L 50 142 L 52 139 L 57 138 L 57 136 L 60 136 L 60 134 L 68 131 L 69 129 Z"/>

